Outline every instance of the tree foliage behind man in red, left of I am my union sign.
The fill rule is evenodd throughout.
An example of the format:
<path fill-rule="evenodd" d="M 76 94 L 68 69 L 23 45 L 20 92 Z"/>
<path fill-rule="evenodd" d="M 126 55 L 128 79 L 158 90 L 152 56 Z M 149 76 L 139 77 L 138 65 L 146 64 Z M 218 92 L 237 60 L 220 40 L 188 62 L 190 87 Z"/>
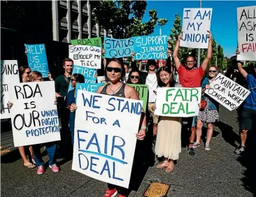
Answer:
<path fill-rule="evenodd" d="M 169 43 L 171 44 L 171 50 L 175 48 L 176 41 L 178 36 L 180 35 L 182 31 L 182 26 L 181 26 L 181 18 L 178 14 L 175 15 L 175 19 L 173 21 L 173 28 L 171 29 L 171 41 Z M 192 49 L 192 48 L 180 48 L 178 50 L 178 57 L 180 59 L 181 64 L 185 65 L 185 60 L 188 55 L 192 55 L 193 57 L 196 57 L 197 50 Z"/>

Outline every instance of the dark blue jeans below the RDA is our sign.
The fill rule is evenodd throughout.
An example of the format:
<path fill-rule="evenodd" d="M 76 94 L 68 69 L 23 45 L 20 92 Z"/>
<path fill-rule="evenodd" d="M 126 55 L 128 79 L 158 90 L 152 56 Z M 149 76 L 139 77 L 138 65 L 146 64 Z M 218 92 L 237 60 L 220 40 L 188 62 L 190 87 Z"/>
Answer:
<path fill-rule="evenodd" d="M 43 161 L 42 154 L 41 154 L 42 146 L 45 146 L 45 149 L 49 156 L 49 165 L 56 163 L 56 161 L 55 161 L 56 148 L 57 148 L 56 142 L 44 143 L 44 144 L 32 145 L 32 146 L 33 146 L 33 154 L 34 154 L 34 159 L 36 161 L 36 166 L 43 166 L 45 164 L 45 162 Z"/>

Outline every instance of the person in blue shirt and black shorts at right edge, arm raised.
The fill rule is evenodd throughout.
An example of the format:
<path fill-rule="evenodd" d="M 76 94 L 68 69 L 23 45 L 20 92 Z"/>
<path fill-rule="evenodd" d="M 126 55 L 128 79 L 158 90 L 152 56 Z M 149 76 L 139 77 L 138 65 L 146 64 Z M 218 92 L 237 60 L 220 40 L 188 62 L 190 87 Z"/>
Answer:
<path fill-rule="evenodd" d="M 240 54 L 239 50 L 236 54 Z M 248 130 L 253 128 L 253 120 L 256 120 L 256 67 L 253 68 L 251 74 L 248 74 L 242 67 L 241 61 L 237 61 L 237 67 L 239 72 L 246 78 L 248 82 L 248 89 L 250 90 L 249 96 L 243 104 L 243 110 L 241 112 L 241 122 L 240 122 L 240 138 L 241 145 L 237 147 L 234 151 L 236 154 L 241 154 L 246 150 L 246 138 Z"/>

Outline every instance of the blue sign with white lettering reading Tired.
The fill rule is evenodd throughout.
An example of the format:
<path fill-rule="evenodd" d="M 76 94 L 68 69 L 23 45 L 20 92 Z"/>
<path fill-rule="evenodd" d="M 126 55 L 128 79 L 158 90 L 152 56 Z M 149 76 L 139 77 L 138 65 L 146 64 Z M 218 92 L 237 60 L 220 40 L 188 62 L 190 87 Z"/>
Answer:
<path fill-rule="evenodd" d="M 86 68 L 85 66 L 73 66 L 72 75 L 78 73 L 85 77 L 85 83 L 95 83 L 97 78 L 97 70 L 94 68 Z M 71 83 L 69 84 L 69 91 L 72 89 Z"/>

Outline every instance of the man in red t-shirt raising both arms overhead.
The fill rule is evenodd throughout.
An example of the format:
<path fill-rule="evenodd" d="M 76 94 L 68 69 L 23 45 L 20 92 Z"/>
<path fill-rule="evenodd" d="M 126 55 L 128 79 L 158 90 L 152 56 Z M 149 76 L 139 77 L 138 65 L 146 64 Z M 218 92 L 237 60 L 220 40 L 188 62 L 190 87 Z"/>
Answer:
<path fill-rule="evenodd" d="M 194 57 L 187 56 L 186 58 L 186 66 L 180 64 L 180 59 L 178 59 L 178 48 L 180 46 L 180 40 L 182 39 L 182 33 L 178 36 L 178 41 L 173 50 L 173 59 L 175 62 L 176 69 L 178 71 L 180 85 L 183 87 L 201 87 L 201 79 L 206 72 L 206 68 L 208 66 L 209 61 L 211 60 L 213 50 L 212 50 L 212 40 L 211 40 L 211 32 L 208 31 L 208 52 L 207 57 L 204 59 L 203 64 L 199 66 L 199 68 L 194 69 L 196 61 Z M 188 153 L 190 156 L 194 156 L 195 152 L 193 149 L 194 137 L 196 136 L 196 121 L 197 117 L 190 117 L 187 119 L 187 128 L 191 129 L 190 134 L 190 143 L 188 145 Z"/>

